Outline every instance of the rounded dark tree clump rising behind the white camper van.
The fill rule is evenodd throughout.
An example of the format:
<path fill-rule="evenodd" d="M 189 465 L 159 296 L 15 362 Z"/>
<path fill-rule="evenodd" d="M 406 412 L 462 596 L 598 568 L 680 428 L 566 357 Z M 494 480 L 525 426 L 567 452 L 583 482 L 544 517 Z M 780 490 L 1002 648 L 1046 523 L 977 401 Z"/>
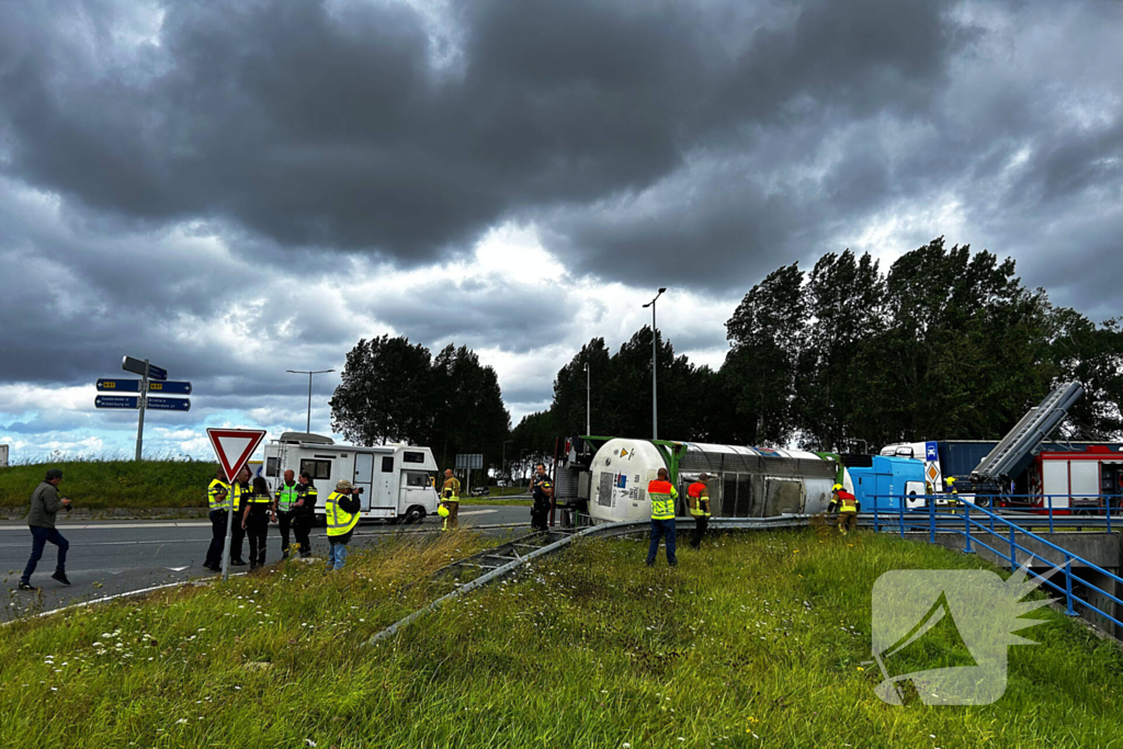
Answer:
<path fill-rule="evenodd" d="M 403 337 L 358 341 L 330 405 L 348 441 L 427 445 L 441 467 L 459 453 L 499 455 L 511 431 L 495 371 L 451 344 L 432 356 Z"/>

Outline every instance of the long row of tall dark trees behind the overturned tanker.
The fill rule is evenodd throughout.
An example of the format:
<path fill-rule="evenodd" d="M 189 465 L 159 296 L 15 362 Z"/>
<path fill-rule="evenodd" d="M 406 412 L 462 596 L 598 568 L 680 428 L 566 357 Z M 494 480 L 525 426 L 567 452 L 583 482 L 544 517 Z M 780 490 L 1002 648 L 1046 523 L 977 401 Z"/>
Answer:
<path fill-rule="evenodd" d="M 997 439 L 1056 383 L 1086 394 L 1067 436 L 1123 430 L 1123 331 L 1026 289 L 1013 259 L 942 238 L 883 273 L 868 254 L 780 267 L 725 325 L 714 372 L 657 338 L 659 435 L 669 439 L 830 450 L 921 439 Z M 593 431 L 651 433 L 651 329 L 611 353 L 594 338 L 563 367 L 549 410 L 514 429 L 515 447 L 549 455 L 584 433 L 585 365 L 595 373 Z"/>

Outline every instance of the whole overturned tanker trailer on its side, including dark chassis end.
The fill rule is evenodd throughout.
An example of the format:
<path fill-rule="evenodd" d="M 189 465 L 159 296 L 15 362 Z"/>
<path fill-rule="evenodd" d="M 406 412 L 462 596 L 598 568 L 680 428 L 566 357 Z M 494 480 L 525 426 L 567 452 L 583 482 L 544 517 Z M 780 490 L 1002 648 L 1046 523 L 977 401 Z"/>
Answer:
<path fill-rule="evenodd" d="M 686 487 L 710 475 L 710 509 L 715 517 L 773 518 L 827 510 L 838 482 L 852 491 L 834 460 L 803 450 L 704 445 L 656 439 L 576 437 L 556 465 L 555 506 L 562 524 L 651 517 L 648 482 L 666 468 L 678 488 L 676 514 L 688 515 Z M 578 521 L 579 517 L 579 521 Z"/>

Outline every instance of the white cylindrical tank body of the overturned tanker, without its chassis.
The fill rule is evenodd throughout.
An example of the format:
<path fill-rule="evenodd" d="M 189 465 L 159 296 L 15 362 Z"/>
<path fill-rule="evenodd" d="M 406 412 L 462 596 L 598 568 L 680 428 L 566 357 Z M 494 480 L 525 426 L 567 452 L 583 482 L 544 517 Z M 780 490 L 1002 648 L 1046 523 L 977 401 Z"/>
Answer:
<path fill-rule="evenodd" d="M 659 468 L 669 465 L 649 440 L 615 438 L 602 445 L 590 464 L 593 521 L 650 518 L 647 485 Z M 705 472 L 711 476 L 713 514 L 740 518 L 822 512 L 830 503 L 836 474 L 834 462 L 814 453 L 701 442 L 679 444 L 678 468 L 681 496 Z"/>

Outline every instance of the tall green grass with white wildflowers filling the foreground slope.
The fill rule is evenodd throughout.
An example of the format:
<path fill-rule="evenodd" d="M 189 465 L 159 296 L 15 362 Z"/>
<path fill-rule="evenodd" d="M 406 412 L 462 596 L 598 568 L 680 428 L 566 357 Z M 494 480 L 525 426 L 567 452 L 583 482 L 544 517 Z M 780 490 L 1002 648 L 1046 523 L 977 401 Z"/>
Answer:
<path fill-rule="evenodd" d="M 869 592 L 893 568 L 970 568 L 859 533 L 727 536 L 677 569 L 591 541 L 374 649 L 438 594 L 401 591 L 480 540 L 394 541 L 325 577 L 292 565 L 0 636 L 4 746 L 1108 747 L 1123 657 L 1053 611 L 988 706 L 883 704 Z M 852 546 L 851 546 L 852 545 Z M 846 572 L 843 572 L 846 570 Z M 942 639 L 926 648 L 953 663 Z M 314 742 L 314 745 L 312 743 Z"/>

